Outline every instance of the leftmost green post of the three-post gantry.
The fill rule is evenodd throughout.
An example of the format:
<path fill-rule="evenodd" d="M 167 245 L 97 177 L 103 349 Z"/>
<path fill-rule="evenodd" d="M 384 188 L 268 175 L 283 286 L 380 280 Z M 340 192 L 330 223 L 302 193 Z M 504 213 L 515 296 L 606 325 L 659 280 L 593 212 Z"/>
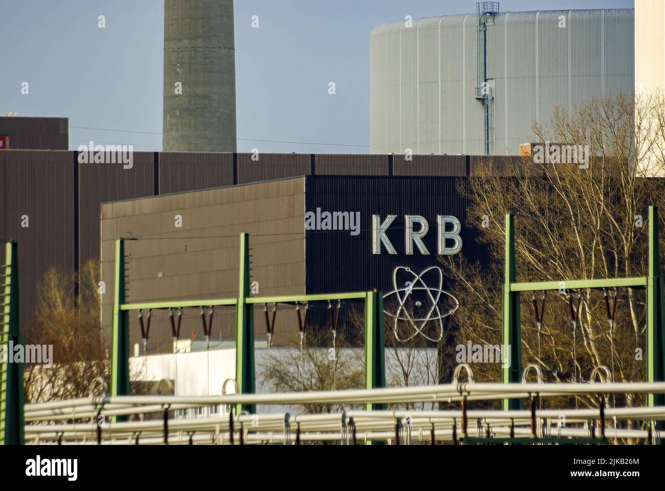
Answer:
<path fill-rule="evenodd" d="M 113 335 L 111 346 L 111 395 L 130 395 L 129 311 L 125 303 L 124 239 L 116 240 L 116 275 L 113 295 Z M 117 418 L 120 420 L 120 417 Z"/>

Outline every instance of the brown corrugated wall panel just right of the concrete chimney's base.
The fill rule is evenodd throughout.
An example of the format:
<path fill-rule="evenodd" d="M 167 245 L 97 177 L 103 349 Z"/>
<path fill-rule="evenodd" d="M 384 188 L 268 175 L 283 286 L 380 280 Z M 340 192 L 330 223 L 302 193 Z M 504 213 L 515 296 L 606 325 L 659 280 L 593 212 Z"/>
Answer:
<path fill-rule="evenodd" d="M 311 161 L 311 154 L 238 154 L 238 183 L 305 176 Z"/>

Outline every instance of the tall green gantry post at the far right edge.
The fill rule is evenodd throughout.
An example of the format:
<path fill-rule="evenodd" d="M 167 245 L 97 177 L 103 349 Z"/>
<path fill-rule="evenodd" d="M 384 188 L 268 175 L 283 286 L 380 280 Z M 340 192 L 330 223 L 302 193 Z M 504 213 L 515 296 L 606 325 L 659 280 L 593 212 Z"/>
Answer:
<path fill-rule="evenodd" d="M 649 273 L 646 278 L 646 381 L 665 381 L 665 326 L 663 325 L 663 278 L 660 273 L 660 217 L 649 207 Z M 649 394 L 648 406 L 665 403 L 662 394 Z"/>

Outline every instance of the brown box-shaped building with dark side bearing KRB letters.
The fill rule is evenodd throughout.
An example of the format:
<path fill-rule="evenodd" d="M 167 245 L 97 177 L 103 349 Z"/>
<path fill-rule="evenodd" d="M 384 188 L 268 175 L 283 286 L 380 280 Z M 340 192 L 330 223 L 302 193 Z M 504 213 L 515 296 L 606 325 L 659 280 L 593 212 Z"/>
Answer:
<path fill-rule="evenodd" d="M 475 228 L 469 226 L 472 220 L 467 217 L 467 198 L 458 192 L 463 180 L 458 176 L 315 174 L 102 204 L 104 329 L 110 331 L 112 323 L 111 292 L 119 237 L 128 239 L 123 271 L 126 301 L 200 299 L 199 307 L 184 309 L 181 331 L 181 336 L 194 333 L 197 339 L 205 331 L 200 319 L 205 299 L 237 297 L 239 234 L 243 232 L 249 234 L 251 280 L 259 287 L 254 293 L 261 296 L 393 291 L 402 286 L 394 283 L 396 267 L 418 273 L 439 264 L 438 216 L 457 218 L 462 224 L 465 257 L 485 263 L 487 246 L 475 240 Z M 313 228 L 312 217 L 322 210 L 338 216 L 353 214 L 355 218 L 353 222 L 338 220 L 334 227 Z M 372 216 L 384 220 L 388 215 L 396 218 L 385 232 L 395 250 L 377 252 L 372 246 Z M 430 224 L 429 232 L 421 238 L 425 251 L 406 251 L 405 215 L 418 216 Z M 325 302 L 307 307 L 310 326 L 328 323 Z M 352 308 L 352 302 L 344 304 L 345 312 Z M 265 335 L 263 309 L 272 311 L 273 305 L 257 305 L 255 309 L 255 335 L 259 339 Z M 279 305 L 277 309 L 273 342 L 294 343 L 299 333 L 295 307 Z M 132 343 L 140 343 L 137 315 L 146 317 L 148 312 L 130 314 Z M 148 351 L 168 350 L 168 311 L 156 310 L 151 315 Z M 214 339 L 232 338 L 233 309 L 217 308 L 214 319 Z"/>

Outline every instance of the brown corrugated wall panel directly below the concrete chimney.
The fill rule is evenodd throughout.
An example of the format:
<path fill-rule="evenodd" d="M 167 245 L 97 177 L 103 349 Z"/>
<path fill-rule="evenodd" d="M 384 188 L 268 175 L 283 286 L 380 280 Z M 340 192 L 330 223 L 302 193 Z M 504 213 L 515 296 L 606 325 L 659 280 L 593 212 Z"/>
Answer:
<path fill-rule="evenodd" d="M 160 152 L 158 158 L 160 194 L 233 184 L 233 154 Z"/>

